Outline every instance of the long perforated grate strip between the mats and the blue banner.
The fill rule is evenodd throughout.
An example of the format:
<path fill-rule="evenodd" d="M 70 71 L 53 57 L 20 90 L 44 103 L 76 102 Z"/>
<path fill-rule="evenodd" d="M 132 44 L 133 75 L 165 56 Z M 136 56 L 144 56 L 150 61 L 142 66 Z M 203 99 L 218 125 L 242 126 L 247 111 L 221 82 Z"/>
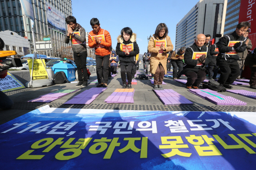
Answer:
<path fill-rule="evenodd" d="M 160 105 L 131 105 L 131 104 L 63 104 L 63 103 L 28 103 L 15 102 L 13 109 L 28 109 L 34 110 L 39 107 L 49 105 L 55 108 L 70 108 L 70 109 L 114 109 L 114 110 L 160 110 L 160 111 L 200 111 L 200 112 L 256 112 L 254 106 L 194 106 L 194 105 L 179 105 L 179 106 L 160 106 Z"/>

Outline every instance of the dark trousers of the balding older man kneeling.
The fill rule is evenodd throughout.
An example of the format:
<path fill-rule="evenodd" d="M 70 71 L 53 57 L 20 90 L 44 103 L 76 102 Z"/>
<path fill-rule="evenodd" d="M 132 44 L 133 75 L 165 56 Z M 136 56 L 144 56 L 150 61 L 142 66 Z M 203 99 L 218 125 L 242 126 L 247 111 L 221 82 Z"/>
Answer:
<path fill-rule="evenodd" d="M 198 87 L 203 80 L 206 78 L 206 72 L 204 70 L 198 70 L 197 73 L 194 71 L 185 72 L 187 76 L 187 87 Z"/>

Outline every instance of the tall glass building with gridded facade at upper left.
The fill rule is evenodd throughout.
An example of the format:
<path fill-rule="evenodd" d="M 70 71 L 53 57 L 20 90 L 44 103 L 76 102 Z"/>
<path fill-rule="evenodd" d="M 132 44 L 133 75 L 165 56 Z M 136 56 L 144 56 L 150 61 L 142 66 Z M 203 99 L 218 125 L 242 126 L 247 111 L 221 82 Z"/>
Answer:
<path fill-rule="evenodd" d="M 43 54 L 48 56 L 58 56 L 61 49 L 70 45 L 64 42 L 65 34 L 53 29 L 49 29 L 46 18 L 46 3 L 50 3 L 54 8 L 67 16 L 72 15 L 71 0 L 31 0 L 34 11 L 34 32 L 37 41 L 43 41 L 43 38 L 51 38 L 53 51 L 46 50 Z M 0 31 L 10 30 L 27 38 L 33 48 L 33 38 L 30 19 L 26 18 L 20 0 L 0 0 Z M 69 48 L 67 48 L 69 49 Z M 66 50 L 71 53 L 71 50 Z"/>

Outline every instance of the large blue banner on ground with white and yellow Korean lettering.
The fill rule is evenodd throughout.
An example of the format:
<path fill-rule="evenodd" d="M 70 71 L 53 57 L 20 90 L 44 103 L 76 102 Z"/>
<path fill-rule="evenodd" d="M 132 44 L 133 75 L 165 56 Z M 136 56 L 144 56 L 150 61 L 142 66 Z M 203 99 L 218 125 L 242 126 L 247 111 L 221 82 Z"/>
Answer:
<path fill-rule="evenodd" d="M 43 106 L 0 125 L 1 170 L 253 170 L 255 112 Z"/>

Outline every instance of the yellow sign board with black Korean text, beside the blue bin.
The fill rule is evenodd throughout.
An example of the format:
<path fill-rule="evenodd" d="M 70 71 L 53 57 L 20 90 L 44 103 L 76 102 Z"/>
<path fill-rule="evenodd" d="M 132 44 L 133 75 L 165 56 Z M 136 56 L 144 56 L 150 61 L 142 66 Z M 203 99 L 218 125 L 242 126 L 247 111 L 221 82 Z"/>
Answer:
<path fill-rule="evenodd" d="M 42 63 L 42 61 L 43 61 L 43 63 Z M 31 75 L 32 65 L 33 65 L 32 80 L 48 79 L 46 69 L 43 66 L 43 65 L 45 65 L 45 61 L 44 61 L 44 59 L 42 59 L 42 61 L 40 59 L 34 59 L 34 63 L 32 64 L 33 59 L 28 59 L 30 75 Z"/>

